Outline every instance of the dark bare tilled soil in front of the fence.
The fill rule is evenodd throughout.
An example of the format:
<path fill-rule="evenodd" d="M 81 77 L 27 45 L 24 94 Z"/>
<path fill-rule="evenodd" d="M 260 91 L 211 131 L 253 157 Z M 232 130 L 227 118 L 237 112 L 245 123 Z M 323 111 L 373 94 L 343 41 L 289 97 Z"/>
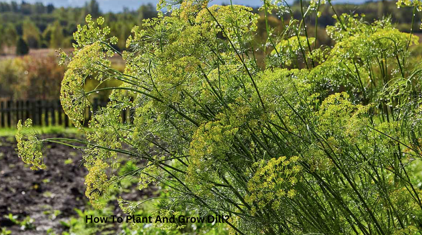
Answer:
<path fill-rule="evenodd" d="M 81 165 L 80 151 L 48 144 L 44 150 L 47 168 L 34 171 L 19 159 L 15 148 L 13 137 L 0 137 L 0 231 L 6 228 L 12 235 L 45 235 L 51 228 L 61 234 L 66 228 L 60 221 L 77 216 L 75 208 L 83 211 L 87 207 L 83 184 L 87 170 Z M 146 193 L 151 194 L 151 191 L 134 189 L 130 196 L 140 198 Z M 60 211 L 57 216 L 54 215 L 56 210 Z M 121 212 L 118 210 L 115 214 Z M 35 229 L 22 230 L 7 218 L 9 213 L 17 215 L 19 221 L 29 216 Z"/>

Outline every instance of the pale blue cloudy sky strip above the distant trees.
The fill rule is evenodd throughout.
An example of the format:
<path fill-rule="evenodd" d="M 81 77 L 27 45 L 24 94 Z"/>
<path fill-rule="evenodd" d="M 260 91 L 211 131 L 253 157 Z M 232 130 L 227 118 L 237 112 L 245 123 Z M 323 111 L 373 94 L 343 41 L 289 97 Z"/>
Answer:
<path fill-rule="evenodd" d="M 11 0 L 0 0 L 0 1 L 8 1 Z M 15 0 L 20 2 L 21 0 Z M 53 3 L 56 7 L 61 6 L 83 6 L 86 0 L 25 0 L 26 2 L 34 3 L 34 2 L 42 2 L 44 4 Z M 152 3 L 154 5 L 157 4 L 158 0 L 97 0 L 100 9 L 102 12 L 120 12 L 123 10 L 124 7 L 129 8 L 130 10 L 136 10 L 139 6 L 147 3 Z M 261 0 L 232 0 L 233 4 L 242 4 L 248 6 L 261 6 Z M 289 1 L 289 0 L 288 0 Z M 292 1 L 292 0 L 290 0 Z M 340 3 L 340 2 L 349 2 L 349 3 L 363 3 L 367 0 L 336 0 L 333 3 Z M 230 0 L 212 0 L 211 4 L 221 4 L 221 3 L 230 3 Z"/>

